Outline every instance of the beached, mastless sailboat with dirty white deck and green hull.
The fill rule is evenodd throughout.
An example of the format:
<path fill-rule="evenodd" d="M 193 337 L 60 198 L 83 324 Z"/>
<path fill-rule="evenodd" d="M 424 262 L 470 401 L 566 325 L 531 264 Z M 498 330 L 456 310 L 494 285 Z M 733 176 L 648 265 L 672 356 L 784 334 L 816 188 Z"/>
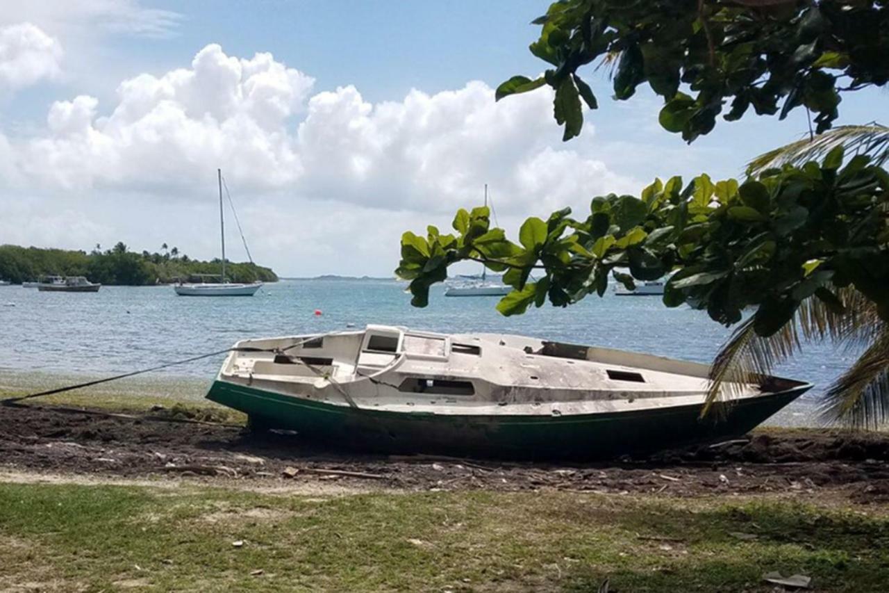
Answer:
<path fill-rule="evenodd" d="M 374 451 L 592 459 L 741 435 L 805 393 L 726 384 L 701 418 L 709 366 L 500 334 L 401 327 L 238 342 L 207 398 L 256 429 Z"/>

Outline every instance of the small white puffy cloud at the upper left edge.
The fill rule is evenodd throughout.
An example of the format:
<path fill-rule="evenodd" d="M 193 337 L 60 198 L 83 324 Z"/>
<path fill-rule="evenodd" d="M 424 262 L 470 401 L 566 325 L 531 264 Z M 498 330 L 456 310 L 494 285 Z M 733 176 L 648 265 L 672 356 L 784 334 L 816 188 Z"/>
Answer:
<path fill-rule="evenodd" d="M 0 89 L 59 77 L 61 55 L 59 41 L 29 22 L 0 28 Z"/>

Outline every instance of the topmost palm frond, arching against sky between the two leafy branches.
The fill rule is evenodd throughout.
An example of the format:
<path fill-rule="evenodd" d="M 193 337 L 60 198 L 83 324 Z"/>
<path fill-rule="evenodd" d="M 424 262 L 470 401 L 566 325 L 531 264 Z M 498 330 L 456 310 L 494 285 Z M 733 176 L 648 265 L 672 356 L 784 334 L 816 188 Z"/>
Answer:
<path fill-rule="evenodd" d="M 865 154 L 874 165 L 882 166 L 889 160 L 889 127 L 877 122 L 837 126 L 812 139 L 790 142 L 754 158 L 747 164 L 747 175 L 758 175 L 765 169 L 784 165 L 799 167 L 811 160 L 821 161 L 837 146 L 844 147 L 846 156 Z"/>

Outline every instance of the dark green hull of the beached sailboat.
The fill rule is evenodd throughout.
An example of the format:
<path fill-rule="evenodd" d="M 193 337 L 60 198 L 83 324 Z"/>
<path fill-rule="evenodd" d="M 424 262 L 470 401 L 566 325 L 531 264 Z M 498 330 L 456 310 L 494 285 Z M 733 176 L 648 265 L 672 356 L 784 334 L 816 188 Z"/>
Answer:
<path fill-rule="evenodd" d="M 738 402 L 725 419 L 701 406 L 575 416 L 454 416 L 353 409 L 215 381 L 207 398 L 256 426 L 286 428 L 338 447 L 512 459 L 595 459 L 743 435 L 810 386 Z"/>

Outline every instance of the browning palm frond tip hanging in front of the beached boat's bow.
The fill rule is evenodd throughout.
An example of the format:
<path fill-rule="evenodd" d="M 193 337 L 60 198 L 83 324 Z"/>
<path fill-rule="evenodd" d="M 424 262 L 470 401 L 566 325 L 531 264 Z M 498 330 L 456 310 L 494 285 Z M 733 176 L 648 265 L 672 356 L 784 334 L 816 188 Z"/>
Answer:
<path fill-rule="evenodd" d="M 797 320 L 792 319 L 772 336 L 757 336 L 751 315 L 735 329 L 710 366 L 709 388 L 701 416 L 717 403 L 731 403 L 750 383 L 759 383 L 772 374 L 781 361 L 796 353 L 801 345 Z M 717 412 L 721 407 L 717 408 Z"/>

